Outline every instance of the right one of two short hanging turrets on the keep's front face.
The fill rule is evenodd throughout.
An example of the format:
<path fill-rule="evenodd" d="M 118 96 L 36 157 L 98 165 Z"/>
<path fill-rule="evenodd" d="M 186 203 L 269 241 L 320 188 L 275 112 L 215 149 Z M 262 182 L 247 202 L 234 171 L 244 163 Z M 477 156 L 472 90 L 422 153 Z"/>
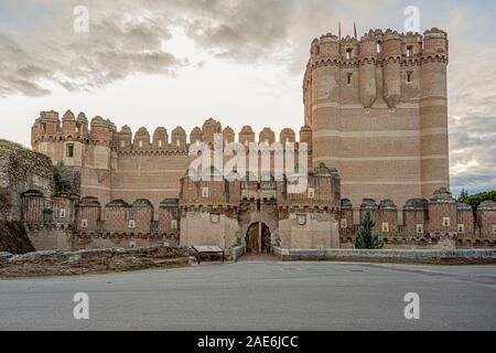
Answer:
<path fill-rule="evenodd" d="M 386 31 L 382 44 L 382 89 L 389 109 L 395 109 L 401 99 L 401 44 L 398 32 Z"/>

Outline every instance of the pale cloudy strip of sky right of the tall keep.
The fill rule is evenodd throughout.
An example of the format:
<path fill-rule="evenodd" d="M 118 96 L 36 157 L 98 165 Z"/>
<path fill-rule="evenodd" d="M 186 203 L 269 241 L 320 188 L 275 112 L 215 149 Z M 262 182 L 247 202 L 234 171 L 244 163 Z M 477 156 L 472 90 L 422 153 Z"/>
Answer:
<path fill-rule="evenodd" d="M 496 49 L 471 40 L 475 18 L 468 9 L 457 9 L 446 24 L 452 42 L 449 115 L 455 194 L 462 188 L 472 193 L 496 190 Z"/>

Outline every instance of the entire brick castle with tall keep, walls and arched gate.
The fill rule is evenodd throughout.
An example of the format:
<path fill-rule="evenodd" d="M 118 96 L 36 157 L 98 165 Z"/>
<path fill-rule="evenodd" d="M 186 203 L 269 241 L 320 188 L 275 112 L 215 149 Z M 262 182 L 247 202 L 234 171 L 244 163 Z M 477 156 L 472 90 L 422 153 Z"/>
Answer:
<path fill-rule="evenodd" d="M 257 140 L 249 126 L 237 139 L 214 119 L 188 138 L 182 127 L 132 135 L 101 117 L 88 122 L 83 113 L 68 110 L 60 119 L 43 111 L 32 127 L 33 150 L 77 174 L 77 191 L 55 195 L 35 188 L 41 176 L 32 178 L 33 190 L 15 189 L 18 213 L 31 229 L 65 229 L 62 243 L 36 235 L 41 248 L 352 247 L 367 211 L 386 247 L 446 240 L 494 246 L 496 204 L 484 203 L 474 216 L 449 192 L 448 61 L 448 35 L 438 29 L 424 35 L 376 30 L 360 40 L 315 39 L 303 81 L 300 138 L 291 129 L 277 137 L 266 128 L 258 136 L 268 145 L 294 146 L 296 154 L 299 146 L 308 146 L 308 189 L 296 194 L 288 192 L 287 178 L 231 181 L 212 168 L 219 179 L 197 181 L 186 173 L 195 159 L 191 146 L 213 146 L 216 135 L 224 146 L 236 140 L 248 146 Z"/>

